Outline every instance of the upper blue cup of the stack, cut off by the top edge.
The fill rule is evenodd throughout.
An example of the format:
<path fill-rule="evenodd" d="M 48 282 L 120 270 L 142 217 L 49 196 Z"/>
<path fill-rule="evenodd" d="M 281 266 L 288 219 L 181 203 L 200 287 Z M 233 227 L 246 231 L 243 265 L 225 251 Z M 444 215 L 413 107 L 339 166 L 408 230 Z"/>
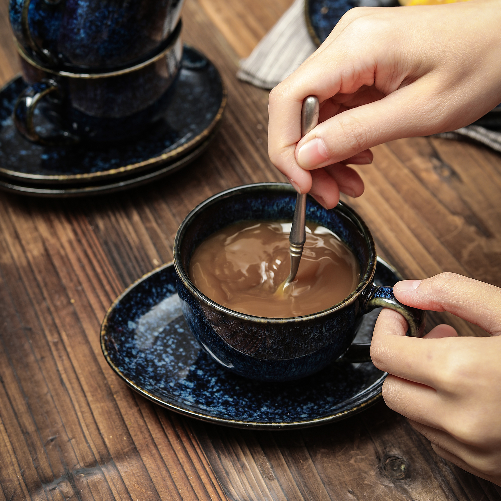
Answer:
<path fill-rule="evenodd" d="M 9 16 L 19 44 L 42 66 L 111 71 L 158 52 L 183 1 L 11 0 Z"/>

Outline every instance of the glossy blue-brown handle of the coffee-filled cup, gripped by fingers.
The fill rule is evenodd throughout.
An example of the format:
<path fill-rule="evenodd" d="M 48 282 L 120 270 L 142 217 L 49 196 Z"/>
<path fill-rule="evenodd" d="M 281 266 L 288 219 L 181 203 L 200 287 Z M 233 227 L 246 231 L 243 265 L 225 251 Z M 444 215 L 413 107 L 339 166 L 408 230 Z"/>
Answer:
<path fill-rule="evenodd" d="M 372 289 L 369 292 L 368 299 L 364 305 L 364 315 L 374 310 L 375 308 L 389 308 L 400 313 L 409 329 L 406 336 L 422 338 L 424 336 L 424 328 L 426 326 L 426 312 L 403 305 L 395 299 L 393 295 L 393 287 L 386 287 L 372 284 Z M 342 359 L 346 362 L 370 362 L 370 343 L 352 343 L 342 355 Z"/>

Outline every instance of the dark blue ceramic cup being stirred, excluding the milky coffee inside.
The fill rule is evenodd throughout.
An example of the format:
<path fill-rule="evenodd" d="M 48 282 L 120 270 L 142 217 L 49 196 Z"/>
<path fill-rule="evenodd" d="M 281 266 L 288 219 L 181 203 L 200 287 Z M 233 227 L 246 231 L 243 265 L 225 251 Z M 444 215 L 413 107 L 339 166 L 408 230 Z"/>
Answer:
<path fill-rule="evenodd" d="M 285 183 L 238 186 L 211 196 L 179 226 L 174 265 L 181 308 L 195 338 L 214 360 L 237 374 L 287 381 L 312 374 L 346 352 L 364 314 L 385 307 L 401 313 L 410 336 L 424 333 L 425 313 L 400 304 L 391 287 L 373 284 L 376 250 L 369 228 L 344 203 L 327 210 L 308 197 L 306 218 L 334 231 L 360 263 L 360 284 L 344 301 L 296 318 L 261 318 L 237 313 L 204 296 L 188 276 L 195 248 L 211 233 L 245 219 L 292 219 L 296 191 Z M 366 354 L 368 355 L 368 353 Z"/>

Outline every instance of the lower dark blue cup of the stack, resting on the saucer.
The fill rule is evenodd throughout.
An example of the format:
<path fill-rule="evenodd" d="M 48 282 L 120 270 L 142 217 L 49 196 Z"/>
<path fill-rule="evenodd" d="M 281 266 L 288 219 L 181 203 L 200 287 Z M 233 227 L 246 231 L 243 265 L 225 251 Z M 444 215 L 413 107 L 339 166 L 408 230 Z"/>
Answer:
<path fill-rule="evenodd" d="M 181 21 L 170 42 L 139 65 L 105 73 L 48 70 L 19 46 L 24 79 L 31 84 L 14 108 L 19 132 L 32 142 L 65 145 L 80 141 L 118 141 L 155 121 L 173 95 L 182 57 Z M 40 111 L 54 124 L 43 135 L 36 127 Z"/>

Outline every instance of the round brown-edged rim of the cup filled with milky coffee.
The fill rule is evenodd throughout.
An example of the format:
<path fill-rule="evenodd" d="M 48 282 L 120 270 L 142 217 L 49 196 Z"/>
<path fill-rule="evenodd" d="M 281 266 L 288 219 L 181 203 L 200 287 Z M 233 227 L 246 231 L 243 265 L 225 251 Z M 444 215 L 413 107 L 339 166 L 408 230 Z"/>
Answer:
<path fill-rule="evenodd" d="M 360 283 L 356 287 L 356 289 L 348 296 L 346 297 L 343 301 L 340 303 L 337 303 L 336 305 L 331 306 L 330 308 L 327 308 L 326 310 L 322 310 L 320 312 L 316 313 L 310 313 L 308 315 L 303 315 L 301 317 L 286 317 L 286 318 L 269 318 L 269 317 L 258 317 L 255 315 L 248 315 L 245 313 L 240 313 L 236 312 L 234 310 L 230 310 L 229 308 L 226 308 L 224 306 L 219 305 L 215 301 L 211 300 L 207 296 L 205 296 L 202 292 L 200 292 L 195 285 L 191 282 L 188 273 L 185 272 L 184 267 L 182 265 L 182 260 L 181 260 L 181 252 L 180 252 L 180 246 L 182 239 L 184 237 L 184 234 L 186 233 L 186 230 L 189 226 L 189 224 L 193 221 L 193 219 L 196 217 L 196 215 L 202 210 L 203 208 L 210 206 L 211 204 L 215 203 L 219 199 L 223 199 L 229 195 L 231 195 L 234 192 L 241 191 L 241 190 L 259 190 L 260 188 L 276 188 L 276 189 L 285 189 L 287 191 L 290 191 L 291 193 L 296 193 L 296 190 L 291 186 L 289 183 L 280 183 L 280 182 L 263 182 L 263 183 L 252 183 L 252 184 L 243 184 L 240 186 L 235 186 L 233 188 L 226 189 L 224 191 L 221 191 L 219 193 L 216 193 L 203 202 L 199 203 L 195 208 L 193 208 L 188 215 L 183 219 L 181 224 L 179 225 L 179 228 L 177 229 L 176 236 L 174 238 L 174 268 L 176 270 L 178 278 L 182 281 L 183 285 L 188 289 L 188 291 L 198 300 L 202 301 L 205 303 L 205 305 L 209 306 L 212 309 L 215 309 L 221 313 L 224 313 L 227 316 L 233 317 L 235 319 L 239 320 L 244 320 L 244 321 L 249 321 L 249 322 L 258 322 L 258 323 L 264 323 L 264 324 L 284 324 L 284 323 L 295 323 L 298 321 L 304 321 L 304 320 L 309 320 L 309 319 L 319 319 L 322 317 L 326 317 L 333 312 L 339 311 L 346 306 L 352 304 L 355 302 L 364 292 L 365 290 L 370 287 L 371 281 L 374 277 L 374 273 L 376 271 L 376 260 L 377 260 L 377 255 L 376 255 L 376 246 L 374 243 L 374 239 L 372 237 L 372 234 L 367 226 L 365 224 L 364 220 L 358 215 L 358 213 L 353 210 L 351 207 L 349 207 L 346 203 L 344 202 L 339 202 L 336 207 L 332 209 L 326 209 L 326 210 L 340 210 L 344 215 L 350 217 L 352 222 L 357 224 L 359 228 L 362 230 L 362 234 L 364 235 L 364 239 L 368 244 L 369 251 L 370 251 L 370 257 L 369 257 L 369 263 L 367 264 L 365 273 L 363 277 L 360 279 Z M 318 203 L 318 202 L 316 202 Z M 235 221 L 236 222 L 236 221 Z"/>

